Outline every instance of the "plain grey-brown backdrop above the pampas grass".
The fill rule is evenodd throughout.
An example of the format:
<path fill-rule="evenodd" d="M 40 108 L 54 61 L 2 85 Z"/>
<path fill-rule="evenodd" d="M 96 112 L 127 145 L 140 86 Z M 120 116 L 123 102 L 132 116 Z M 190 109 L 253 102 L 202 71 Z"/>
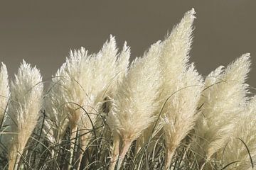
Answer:
<path fill-rule="evenodd" d="M 191 8 L 196 10 L 191 62 L 207 75 L 219 65 L 250 52 L 248 83 L 256 86 L 256 1 L 2 1 L 0 61 L 14 75 L 24 59 L 41 69 L 44 79 L 55 74 L 70 49 L 97 52 L 110 34 L 119 48 L 124 40 L 132 58 L 164 36 Z"/>

